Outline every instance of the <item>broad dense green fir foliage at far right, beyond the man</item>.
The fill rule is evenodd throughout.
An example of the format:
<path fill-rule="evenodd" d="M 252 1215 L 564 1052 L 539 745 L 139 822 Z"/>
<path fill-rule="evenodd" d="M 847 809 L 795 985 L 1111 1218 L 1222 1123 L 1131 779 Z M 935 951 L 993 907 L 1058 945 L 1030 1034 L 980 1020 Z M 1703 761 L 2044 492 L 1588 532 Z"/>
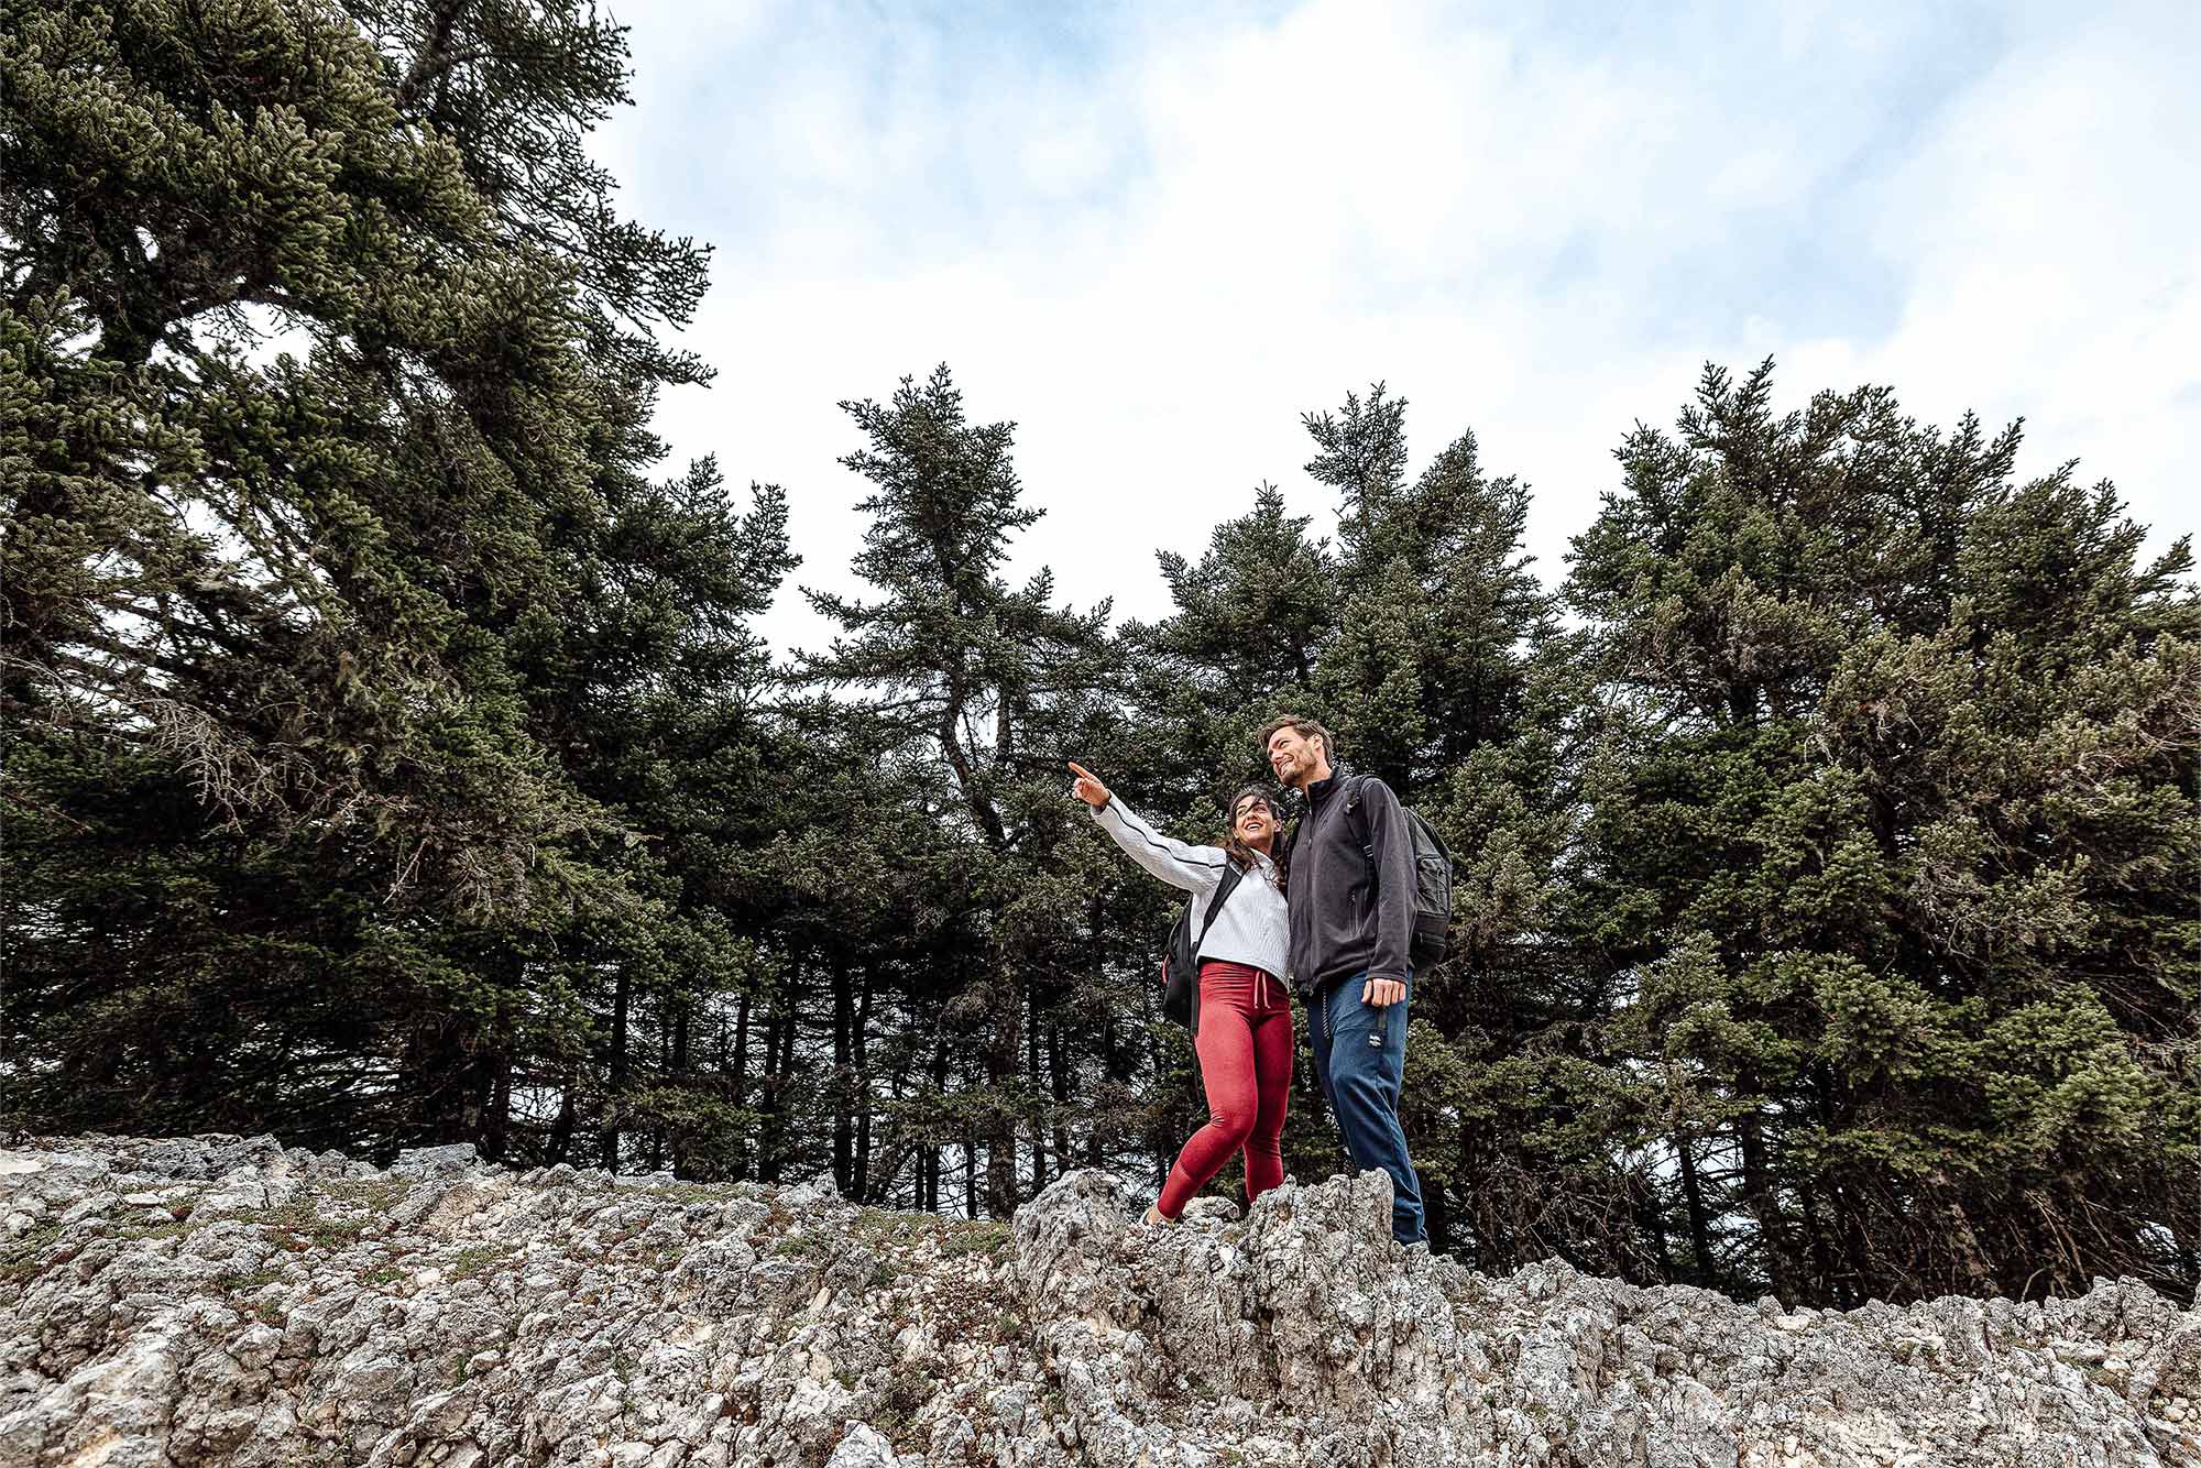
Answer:
<path fill-rule="evenodd" d="M 2016 434 L 1767 401 L 1708 372 L 1640 429 L 1572 585 L 1611 689 L 1572 922 L 1712 1164 L 1675 1230 L 1792 1299 L 2190 1288 L 2188 548 L 2137 563 Z"/>

